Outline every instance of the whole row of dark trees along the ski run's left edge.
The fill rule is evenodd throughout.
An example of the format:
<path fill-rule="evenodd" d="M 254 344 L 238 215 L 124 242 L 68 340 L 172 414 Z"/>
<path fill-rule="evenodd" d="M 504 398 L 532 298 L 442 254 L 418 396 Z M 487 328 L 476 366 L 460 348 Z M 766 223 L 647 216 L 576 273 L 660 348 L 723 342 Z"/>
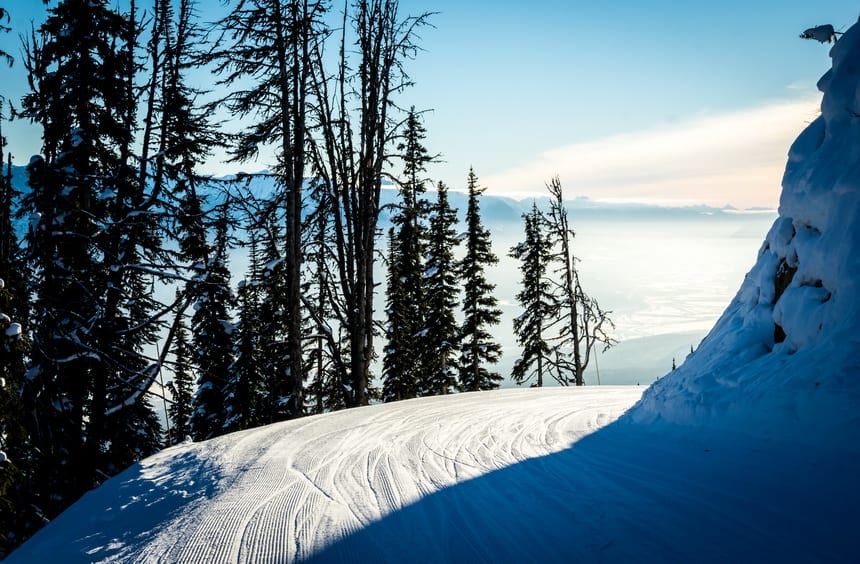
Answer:
<path fill-rule="evenodd" d="M 234 0 L 204 26 L 195 0 L 139 4 L 60 0 L 21 33 L 29 90 L 5 102 L 41 129 L 42 148 L 23 193 L 11 155 L 0 177 L 0 555 L 165 445 L 501 380 L 489 368 L 501 312 L 483 188 L 470 171 L 458 233 L 447 187 L 427 197 L 434 157 L 420 112 L 397 105 L 431 14 L 403 15 L 397 0 Z M 194 85 L 200 72 L 213 91 Z M 217 150 L 236 163 L 270 151 L 274 163 L 216 181 L 199 171 Z M 275 190 L 256 193 L 257 176 Z M 383 248 L 388 180 L 400 198 Z M 529 267 L 538 282 L 523 267 L 532 321 L 516 325 L 527 351 L 518 382 L 545 335 L 526 326 L 560 328 L 537 358 L 562 383 L 582 384 L 594 343 L 610 344 L 606 312 L 581 290 L 561 201 L 559 184 L 516 251 L 563 273 L 543 292 L 544 266 Z M 530 242 L 529 225 L 552 242 Z M 561 250 L 544 256 L 541 244 Z M 238 245 L 249 267 L 234 285 Z M 534 284 L 546 294 L 538 305 L 525 293 Z"/>

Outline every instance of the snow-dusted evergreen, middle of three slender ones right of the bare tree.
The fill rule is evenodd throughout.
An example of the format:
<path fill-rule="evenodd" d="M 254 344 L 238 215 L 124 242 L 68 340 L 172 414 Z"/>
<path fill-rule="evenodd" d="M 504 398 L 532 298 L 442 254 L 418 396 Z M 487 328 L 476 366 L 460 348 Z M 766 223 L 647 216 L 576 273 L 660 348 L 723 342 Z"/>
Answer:
<path fill-rule="evenodd" d="M 460 340 L 456 320 L 460 280 L 454 247 L 460 243 L 455 226 L 457 210 L 448 203 L 448 187 L 437 186 L 437 200 L 430 219 L 424 281 L 427 293 L 425 365 L 428 379 L 422 395 L 444 395 L 457 388 L 457 358 Z"/>

